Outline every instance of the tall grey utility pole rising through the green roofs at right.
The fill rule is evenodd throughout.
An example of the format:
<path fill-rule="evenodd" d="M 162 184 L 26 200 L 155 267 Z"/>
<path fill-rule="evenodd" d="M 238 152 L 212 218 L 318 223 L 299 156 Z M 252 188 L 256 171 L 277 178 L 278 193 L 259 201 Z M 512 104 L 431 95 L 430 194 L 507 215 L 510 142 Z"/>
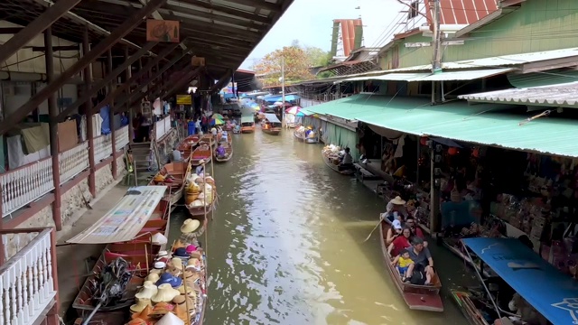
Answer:
<path fill-rule="evenodd" d="M 439 73 L 442 71 L 442 31 L 440 30 L 440 0 L 435 0 L 433 2 L 433 60 L 432 60 L 432 73 Z M 435 90 L 436 82 L 432 81 L 432 105 L 435 105 Z M 432 236 L 440 230 L 440 181 L 441 181 L 441 169 L 439 168 L 442 162 L 443 153 L 440 150 L 441 145 L 434 144 L 433 140 L 430 140 L 430 165 L 431 165 L 431 182 L 430 182 L 430 230 Z"/>

